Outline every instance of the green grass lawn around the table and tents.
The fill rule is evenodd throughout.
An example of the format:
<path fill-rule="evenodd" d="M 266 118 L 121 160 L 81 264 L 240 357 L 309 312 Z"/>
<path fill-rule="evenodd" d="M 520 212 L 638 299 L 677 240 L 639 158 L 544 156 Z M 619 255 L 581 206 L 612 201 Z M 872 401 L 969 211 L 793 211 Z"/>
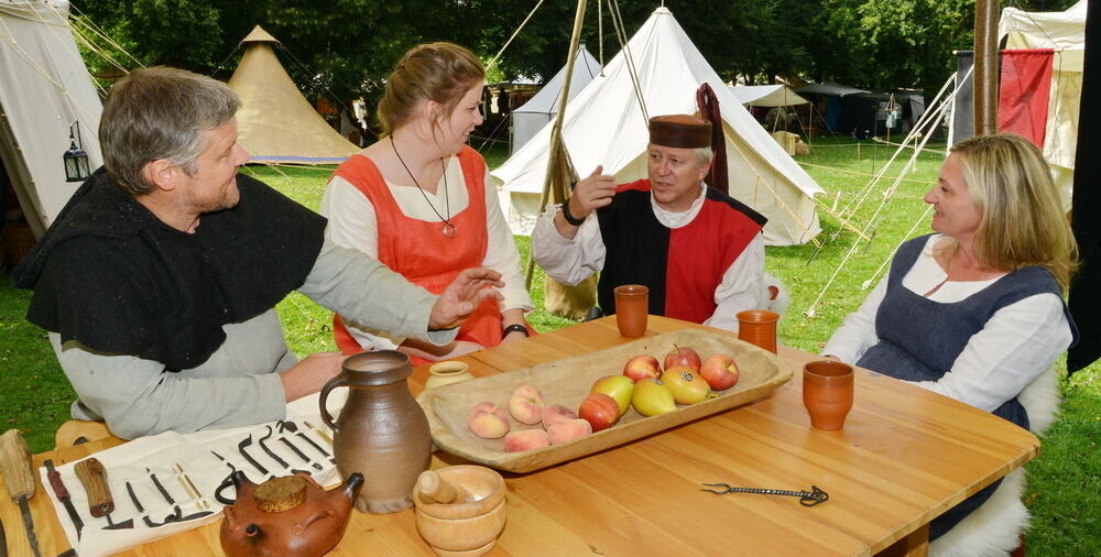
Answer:
<path fill-rule="evenodd" d="M 882 192 L 903 172 L 904 160 L 886 168 L 887 176 L 866 196 L 869 175 L 879 172 L 892 148 L 851 140 L 818 140 L 813 154 L 802 156 L 807 172 L 826 189 L 819 196 L 822 233 L 814 244 L 767 249 L 767 267 L 789 287 L 793 303 L 781 321 L 785 343 L 818 351 L 841 319 L 874 285 L 881 264 L 906 238 L 928 231 L 922 197 L 936 179 L 939 152 L 923 153 L 917 165 L 884 199 Z M 942 151 L 944 145 L 930 146 Z M 858 156 L 859 153 L 859 156 Z M 503 161 L 500 152 L 487 153 L 491 165 Z M 825 168 L 829 167 L 829 168 Z M 246 168 L 303 205 L 317 209 L 331 168 Z M 864 198 L 863 203 L 857 201 Z M 882 203 L 881 203 L 882 201 Z M 848 226 L 830 216 L 850 208 Z M 861 231 L 869 240 L 854 244 Z M 517 237 L 522 255 L 527 238 Z M 835 276 L 832 280 L 831 277 Z M 538 330 L 553 330 L 571 321 L 542 310 L 543 285 L 536 273 L 533 297 L 541 308 L 530 319 Z M 67 419 L 74 394 L 45 341 L 45 334 L 30 326 L 23 315 L 29 293 L 0 281 L 0 417 L 3 428 L 23 430 L 35 452 L 53 447 L 53 433 Z M 331 314 L 299 294 L 279 305 L 291 347 L 298 354 L 335 349 Z M 1060 363 L 1060 373 L 1065 373 Z M 1060 419 L 1043 439 L 1040 456 L 1027 466 L 1026 503 L 1034 514 L 1028 533 L 1029 554 L 1101 555 L 1101 364 L 1062 382 L 1065 403 Z M 873 510 L 869 510 L 872 512 Z"/>

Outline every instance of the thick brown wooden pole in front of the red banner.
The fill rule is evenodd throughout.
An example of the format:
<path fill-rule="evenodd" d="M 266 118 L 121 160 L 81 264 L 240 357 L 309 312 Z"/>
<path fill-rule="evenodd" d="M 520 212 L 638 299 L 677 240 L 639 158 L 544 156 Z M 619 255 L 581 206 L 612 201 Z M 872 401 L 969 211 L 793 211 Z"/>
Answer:
<path fill-rule="evenodd" d="M 974 133 L 998 132 L 998 2 L 974 3 Z"/>

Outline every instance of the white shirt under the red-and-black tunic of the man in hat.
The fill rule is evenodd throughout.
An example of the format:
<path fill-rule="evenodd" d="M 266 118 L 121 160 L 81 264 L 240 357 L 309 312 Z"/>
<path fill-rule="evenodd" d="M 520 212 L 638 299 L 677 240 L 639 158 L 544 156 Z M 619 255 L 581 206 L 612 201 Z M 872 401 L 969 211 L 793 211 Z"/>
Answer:
<path fill-rule="evenodd" d="M 671 229 L 690 223 L 707 196 L 706 186 L 700 184 L 699 197 L 684 212 L 662 209 L 650 196 L 650 206 L 662 226 Z M 604 242 L 600 236 L 600 223 L 596 211 L 590 214 L 577 230 L 573 240 L 563 238 L 554 225 L 554 216 L 560 210 L 558 205 L 548 206 L 535 221 L 532 230 L 532 256 L 556 281 L 577 284 L 592 273 L 604 267 Z M 715 290 L 715 313 L 704 325 L 738 331 L 739 312 L 764 307 L 764 239 L 757 233 L 722 274 L 722 281 Z"/>

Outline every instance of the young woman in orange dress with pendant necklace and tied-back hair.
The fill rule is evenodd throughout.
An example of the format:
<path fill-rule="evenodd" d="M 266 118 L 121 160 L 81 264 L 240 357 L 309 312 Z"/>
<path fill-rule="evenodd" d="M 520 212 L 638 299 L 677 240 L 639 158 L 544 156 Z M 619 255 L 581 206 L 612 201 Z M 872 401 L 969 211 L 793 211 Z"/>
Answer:
<path fill-rule="evenodd" d="M 326 233 L 375 256 L 432 293 L 459 271 L 484 265 L 502 274 L 504 299 L 488 301 L 455 342 L 437 347 L 334 316 L 345 353 L 397 349 L 414 364 L 444 360 L 526 338 L 520 254 L 501 214 L 486 161 L 467 145 L 482 122 L 486 69 L 466 48 L 430 43 L 405 53 L 379 103 L 381 139 L 341 164 L 321 198 Z"/>

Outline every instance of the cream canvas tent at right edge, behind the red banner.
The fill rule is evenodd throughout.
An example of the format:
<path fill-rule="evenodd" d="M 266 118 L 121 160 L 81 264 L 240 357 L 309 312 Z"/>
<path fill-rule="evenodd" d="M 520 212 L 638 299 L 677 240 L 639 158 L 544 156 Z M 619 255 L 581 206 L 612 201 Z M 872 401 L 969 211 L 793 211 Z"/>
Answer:
<path fill-rule="evenodd" d="M 1078 151 L 1078 105 L 1082 96 L 1082 61 L 1086 54 L 1086 0 L 1064 12 L 1002 10 L 999 37 L 1006 48 L 1054 48 L 1051 90 L 1044 157 L 1047 159 L 1064 205 L 1070 207 Z"/>

